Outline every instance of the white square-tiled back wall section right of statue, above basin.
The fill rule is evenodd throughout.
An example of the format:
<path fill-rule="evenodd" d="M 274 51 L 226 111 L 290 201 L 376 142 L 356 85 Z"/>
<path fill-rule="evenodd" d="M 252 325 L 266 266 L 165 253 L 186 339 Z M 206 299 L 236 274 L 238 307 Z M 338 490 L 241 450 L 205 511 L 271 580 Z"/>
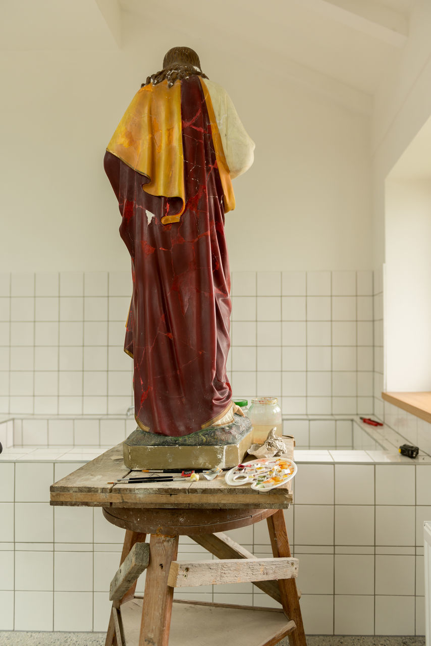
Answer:
<path fill-rule="evenodd" d="M 235 272 L 235 395 L 273 394 L 287 415 L 373 412 L 371 271 Z"/>

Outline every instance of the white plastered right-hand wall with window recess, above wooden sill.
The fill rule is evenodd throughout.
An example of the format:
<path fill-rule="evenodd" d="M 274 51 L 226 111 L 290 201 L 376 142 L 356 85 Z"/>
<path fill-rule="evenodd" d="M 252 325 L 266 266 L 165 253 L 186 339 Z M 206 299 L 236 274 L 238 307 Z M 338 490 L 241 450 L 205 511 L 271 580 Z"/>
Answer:
<path fill-rule="evenodd" d="M 377 397 L 381 390 L 429 390 L 431 386 L 426 375 L 431 348 L 425 333 L 425 326 L 428 324 L 429 329 L 430 324 L 431 293 L 430 270 L 426 266 L 430 240 L 429 191 L 426 181 L 421 180 L 425 173 L 419 170 L 417 154 L 410 154 L 411 147 L 408 156 L 411 168 L 401 162 L 405 178 L 401 179 L 397 171 L 396 180 L 392 174 L 392 180 L 386 181 L 400 160 L 407 159 L 406 149 L 431 115 L 430 24 L 431 3 L 417 0 L 405 48 L 375 95 L 372 122 L 374 266 L 381 267 L 386 260 L 385 374 L 382 382 L 376 373 Z M 423 158 L 425 167 L 426 156 Z M 376 346 L 375 353 L 378 350 Z"/>

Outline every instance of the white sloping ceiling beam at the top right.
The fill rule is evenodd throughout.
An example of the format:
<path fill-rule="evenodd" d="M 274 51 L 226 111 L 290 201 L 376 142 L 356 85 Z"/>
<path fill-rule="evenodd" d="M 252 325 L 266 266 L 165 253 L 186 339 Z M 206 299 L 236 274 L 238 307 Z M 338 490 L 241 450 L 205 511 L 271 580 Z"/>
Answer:
<path fill-rule="evenodd" d="M 377 40 L 403 47 L 408 38 L 408 17 L 378 0 L 299 0 L 323 16 Z"/>

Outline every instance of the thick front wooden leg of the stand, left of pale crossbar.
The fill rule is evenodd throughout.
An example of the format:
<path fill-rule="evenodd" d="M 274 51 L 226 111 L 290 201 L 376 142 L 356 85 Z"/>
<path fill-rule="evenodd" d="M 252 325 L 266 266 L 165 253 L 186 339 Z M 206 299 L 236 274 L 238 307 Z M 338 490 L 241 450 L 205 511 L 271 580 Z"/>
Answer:
<path fill-rule="evenodd" d="M 168 646 L 174 589 L 167 578 L 177 553 L 178 535 L 151 534 L 139 646 Z"/>

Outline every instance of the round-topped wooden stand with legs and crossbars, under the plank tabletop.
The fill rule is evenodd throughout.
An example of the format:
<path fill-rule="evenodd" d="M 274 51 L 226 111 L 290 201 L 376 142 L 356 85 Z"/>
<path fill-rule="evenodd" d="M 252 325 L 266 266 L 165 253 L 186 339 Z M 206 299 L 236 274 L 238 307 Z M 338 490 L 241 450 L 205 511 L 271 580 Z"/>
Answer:
<path fill-rule="evenodd" d="M 104 508 L 103 515 L 126 529 L 120 569 L 111 583 L 105 646 L 216 646 L 225 631 L 237 646 L 273 646 L 286 635 L 291 646 L 306 645 L 295 580 L 298 563 L 291 558 L 282 510 Z M 220 533 L 265 518 L 272 558 L 257 559 Z M 144 542 L 147 534 L 149 543 Z M 222 560 L 176 561 L 178 537 L 184 534 Z M 144 569 L 142 599 L 134 593 Z M 176 587 L 244 581 L 279 601 L 282 610 L 200 601 L 173 604 Z"/>

